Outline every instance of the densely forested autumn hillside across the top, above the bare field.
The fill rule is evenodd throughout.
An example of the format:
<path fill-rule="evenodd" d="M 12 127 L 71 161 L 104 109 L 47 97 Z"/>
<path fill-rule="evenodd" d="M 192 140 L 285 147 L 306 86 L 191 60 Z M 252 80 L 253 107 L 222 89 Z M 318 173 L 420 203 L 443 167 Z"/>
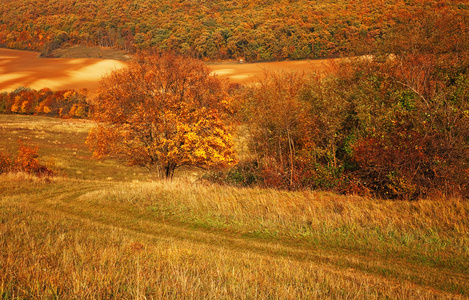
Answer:
<path fill-rule="evenodd" d="M 248 61 L 454 52 L 465 50 L 468 24 L 465 0 L 0 2 L 0 46 L 45 56 L 74 44 Z"/>

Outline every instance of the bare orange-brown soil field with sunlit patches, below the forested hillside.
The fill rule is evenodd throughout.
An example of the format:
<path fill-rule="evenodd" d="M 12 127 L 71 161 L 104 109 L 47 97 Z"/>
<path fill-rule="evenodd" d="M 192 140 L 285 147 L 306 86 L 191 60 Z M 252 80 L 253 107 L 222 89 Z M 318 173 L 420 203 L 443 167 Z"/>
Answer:
<path fill-rule="evenodd" d="M 266 71 L 324 70 L 328 60 L 283 61 L 269 63 L 209 64 L 216 74 L 232 82 L 251 84 Z M 11 92 L 20 86 L 52 90 L 87 88 L 91 92 L 99 86 L 103 75 L 125 62 L 99 58 L 40 58 L 38 52 L 0 49 L 0 91 Z"/>

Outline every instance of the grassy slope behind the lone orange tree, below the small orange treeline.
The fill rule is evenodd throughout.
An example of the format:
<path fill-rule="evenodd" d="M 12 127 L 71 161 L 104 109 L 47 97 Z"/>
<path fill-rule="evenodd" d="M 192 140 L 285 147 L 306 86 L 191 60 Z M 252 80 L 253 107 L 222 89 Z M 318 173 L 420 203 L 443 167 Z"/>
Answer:
<path fill-rule="evenodd" d="M 148 172 L 113 160 L 96 161 L 85 144 L 94 126 L 87 120 L 0 115 L 0 152 L 14 156 L 18 140 L 38 146 L 41 163 L 61 176 L 85 180 L 146 180 Z"/>

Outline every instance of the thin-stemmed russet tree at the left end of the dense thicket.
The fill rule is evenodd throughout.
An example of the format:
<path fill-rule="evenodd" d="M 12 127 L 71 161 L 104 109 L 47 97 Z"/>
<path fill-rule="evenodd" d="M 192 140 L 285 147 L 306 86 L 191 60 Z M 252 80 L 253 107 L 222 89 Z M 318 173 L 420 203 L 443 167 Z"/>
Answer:
<path fill-rule="evenodd" d="M 268 186 L 302 184 L 299 164 L 314 146 L 311 107 L 302 98 L 305 81 L 303 74 L 265 74 L 243 104 L 250 147 L 258 155 Z"/>

